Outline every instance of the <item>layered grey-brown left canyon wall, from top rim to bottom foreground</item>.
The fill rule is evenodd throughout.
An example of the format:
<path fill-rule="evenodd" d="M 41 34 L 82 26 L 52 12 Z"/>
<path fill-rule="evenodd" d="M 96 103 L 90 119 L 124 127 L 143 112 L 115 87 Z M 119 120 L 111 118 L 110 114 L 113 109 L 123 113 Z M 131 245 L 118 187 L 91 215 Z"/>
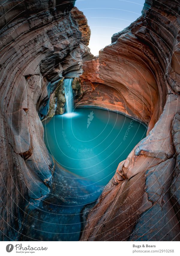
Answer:
<path fill-rule="evenodd" d="M 75 20 L 78 10 L 70 12 L 75 1 L 0 2 L 0 240 L 15 240 L 26 208 L 49 193 L 53 177 L 40 118 L 59 81 L 81 74 L 92 55 L 89 32 Z"/>

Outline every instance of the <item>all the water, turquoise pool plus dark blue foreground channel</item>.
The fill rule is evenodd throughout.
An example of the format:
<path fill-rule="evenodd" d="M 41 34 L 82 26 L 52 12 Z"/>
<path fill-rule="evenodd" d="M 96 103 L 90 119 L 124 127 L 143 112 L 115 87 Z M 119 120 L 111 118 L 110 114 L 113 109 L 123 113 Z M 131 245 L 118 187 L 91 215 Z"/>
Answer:
<path fill-rule="evenodd" d="M 43 122 L 55 158 L 49 195 L 29 209 L 23 241 L 78 241 L 88 204 L 95 204 L 116 168 L 145 137 L 146 128 L 124 115 L 78 108 Z M 83 212 L 83 214 L 82 214 Z"/>

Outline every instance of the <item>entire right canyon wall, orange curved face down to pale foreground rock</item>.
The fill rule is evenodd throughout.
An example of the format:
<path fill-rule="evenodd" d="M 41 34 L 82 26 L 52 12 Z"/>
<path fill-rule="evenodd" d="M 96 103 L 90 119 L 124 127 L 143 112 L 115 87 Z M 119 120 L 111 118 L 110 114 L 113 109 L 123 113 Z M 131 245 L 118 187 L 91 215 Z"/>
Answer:
<path fill-rule="evenodd" d="M 89 210 L 82 241 L 180 239 L 179 12 L 177 1 L 146 0 L 142 16 L 83 65 L 76 106 L 122 112 L 148 131 Z"/>

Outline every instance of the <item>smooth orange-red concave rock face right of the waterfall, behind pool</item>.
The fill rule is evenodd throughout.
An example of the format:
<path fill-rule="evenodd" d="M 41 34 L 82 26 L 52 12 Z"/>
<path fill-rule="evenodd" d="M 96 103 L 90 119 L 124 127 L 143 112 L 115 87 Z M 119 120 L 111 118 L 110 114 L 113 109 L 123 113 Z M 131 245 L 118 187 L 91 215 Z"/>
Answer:
<path fill-rule="evenodd" d="M 126 37 L 128 36 L 127 34 Z M 83 74 L 80 78 L 90 102 L 84 102 L 83 97 L 78 105 L 95 105 L 114 110 L 118 99 L 121 103 L 117 107 L 119 112 L 137 117 L 149 125 L 150 130 L 162 113 L 167 87 L 164 84 L 166 93 L 162 93 L 162 88 L 159 91 L 155 75 L 155 73 L 158 75 L 157 64 L 141 52 L 137 38 L 133 34 L 130 36 L 128 40 L 123 37 L 119 38 L 116 43 L 100 51 L 98 59 L 84 63 Z M 149 47 L 148 50 L 150 52 Z M 91 89 L 87 87 L 87 84 L 91 84 Z M 102 85 L 104 85 L 104 90 L 100 88 Z M 108 100 L 109 94 L 106 90 L 110 87 L 111 91 L 114 90 L 113 94 L 116 98 L 114 99 L 111 94 L 111 100 Z M 103 97 L 96 95 L 93 100 L 91 94 L 95 94 L 93 92 L 95 88 L 97 92 L 102 92 L 101 96 L 104 94 Z"/>

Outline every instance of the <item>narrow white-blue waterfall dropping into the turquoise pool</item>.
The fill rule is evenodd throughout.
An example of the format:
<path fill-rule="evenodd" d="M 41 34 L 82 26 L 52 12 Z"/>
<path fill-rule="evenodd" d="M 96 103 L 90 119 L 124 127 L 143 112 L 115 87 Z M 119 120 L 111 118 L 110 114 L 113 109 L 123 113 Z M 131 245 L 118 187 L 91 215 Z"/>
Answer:
<path fill-rule="evenodd" d="M 65 98 L 66 98 L 65 110 L 67 114 L 72 113 L 74 108 L 72 81 L 73 81 L 73 78 L 64 79 L 64 90 L 65 90 Z"/>

